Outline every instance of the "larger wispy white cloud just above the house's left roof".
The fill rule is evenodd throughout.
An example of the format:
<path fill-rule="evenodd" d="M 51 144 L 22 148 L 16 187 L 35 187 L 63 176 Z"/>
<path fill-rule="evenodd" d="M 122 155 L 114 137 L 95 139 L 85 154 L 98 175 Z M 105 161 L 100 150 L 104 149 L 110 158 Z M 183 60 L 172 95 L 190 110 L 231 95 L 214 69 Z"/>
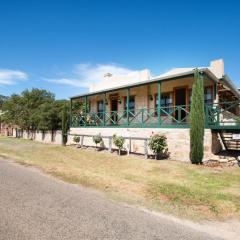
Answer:
<path fill-rule="evenodd" d="M 126 75 L 135 71 L 118 66 L 116 64 L 77 64 L 73 67 L 70 73 L 73 77 L 63 78 L 45 78 L 48 82 L 65 84 L 75 87 L 88 88 L 93 83 L 98 83 L 103 80 L 106 73 L 113 75 Z"/>

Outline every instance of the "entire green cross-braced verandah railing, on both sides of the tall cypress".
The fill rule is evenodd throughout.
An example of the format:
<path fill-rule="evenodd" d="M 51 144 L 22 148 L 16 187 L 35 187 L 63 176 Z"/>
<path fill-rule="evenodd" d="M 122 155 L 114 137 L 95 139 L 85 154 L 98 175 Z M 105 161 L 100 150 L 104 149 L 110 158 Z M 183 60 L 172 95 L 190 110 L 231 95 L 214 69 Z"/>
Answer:
<path fill-rule="evenodd" d="M 239 101 L 205 105 L 206 127 L 237 125 Z M 112 112 L 72 113 L 71 127 L 189 127 L 190 106 L 142 108 Z M 234 112 L 235 113 L 231 113 Z M 224 119 L 224 115 L 232 118 Z"/>

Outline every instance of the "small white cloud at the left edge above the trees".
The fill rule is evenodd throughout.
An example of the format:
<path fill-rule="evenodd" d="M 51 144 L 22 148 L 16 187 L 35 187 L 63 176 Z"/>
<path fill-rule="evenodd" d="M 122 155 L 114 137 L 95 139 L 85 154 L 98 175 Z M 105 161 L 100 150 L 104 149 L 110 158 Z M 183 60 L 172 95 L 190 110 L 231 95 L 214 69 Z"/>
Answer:
<path fill-rule="evenodd" d="M 18 81 L 28 79 L 28 75 L 22 71 L 0 69 L 0 85 L 13 85 Z"/>

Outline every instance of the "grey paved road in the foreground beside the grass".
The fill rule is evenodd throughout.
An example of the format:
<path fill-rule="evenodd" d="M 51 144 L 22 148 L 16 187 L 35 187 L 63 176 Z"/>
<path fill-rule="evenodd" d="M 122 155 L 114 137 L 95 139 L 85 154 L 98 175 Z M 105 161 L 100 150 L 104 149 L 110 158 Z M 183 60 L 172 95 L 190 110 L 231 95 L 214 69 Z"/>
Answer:
<path fill-rule="evenodd" d="M 0 160 L 0 239 L 217 239 Z"/>

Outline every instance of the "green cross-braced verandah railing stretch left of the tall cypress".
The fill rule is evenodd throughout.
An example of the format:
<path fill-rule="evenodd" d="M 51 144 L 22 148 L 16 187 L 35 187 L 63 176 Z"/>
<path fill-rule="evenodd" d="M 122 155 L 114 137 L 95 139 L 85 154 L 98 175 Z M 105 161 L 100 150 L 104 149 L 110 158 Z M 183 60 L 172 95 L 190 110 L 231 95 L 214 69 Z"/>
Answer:
<path fill-rule="evenodd" d="M 112 112 L 89 112 L 74 114 L 71 117 L 72 127 L 101 126 L 186 126 L 189 124 L 189 106 L 161 107 L 160 116 L 155 108 L 142 108 Z"/>

